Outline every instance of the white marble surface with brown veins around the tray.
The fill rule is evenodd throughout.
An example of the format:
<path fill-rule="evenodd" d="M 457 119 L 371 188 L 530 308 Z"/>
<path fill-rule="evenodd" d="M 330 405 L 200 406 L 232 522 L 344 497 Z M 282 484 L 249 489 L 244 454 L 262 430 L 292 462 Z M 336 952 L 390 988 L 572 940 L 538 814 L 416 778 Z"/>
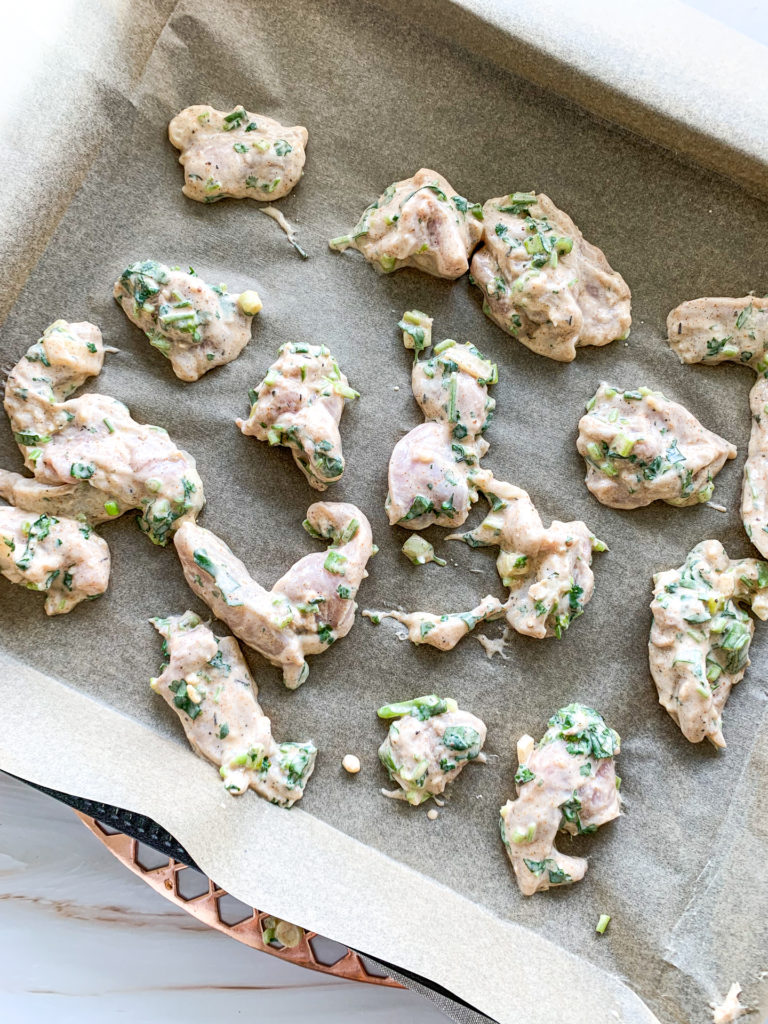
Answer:
<path fill-rule="evenodd" d="M 768 44 L 765 0 L 690 0 L 690 6 Z M 6 102 L 24 81 L 30 48 L 55 35 L 57 13 L 60 0 L 6 11 L 0 37 Z M 303 971 L 207 930 L 124 869 L 71 810 L 0 775 L 2 1024 L 214 1019 L 445 1020 L 413 993 Z"/>

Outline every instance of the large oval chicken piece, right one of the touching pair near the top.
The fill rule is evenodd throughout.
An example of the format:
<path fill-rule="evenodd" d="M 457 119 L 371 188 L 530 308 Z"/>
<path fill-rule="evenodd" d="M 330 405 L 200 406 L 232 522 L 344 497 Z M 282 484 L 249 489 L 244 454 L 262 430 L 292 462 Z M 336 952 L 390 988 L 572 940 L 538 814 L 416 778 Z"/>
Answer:
<path fill-rule="evenodd" d="M 630 290 L 549 197 L 513 193 L 482 208 L 470 281 L 482 311 L 531 351 L 570 362 L 577 348 L 630 332 Z"/>

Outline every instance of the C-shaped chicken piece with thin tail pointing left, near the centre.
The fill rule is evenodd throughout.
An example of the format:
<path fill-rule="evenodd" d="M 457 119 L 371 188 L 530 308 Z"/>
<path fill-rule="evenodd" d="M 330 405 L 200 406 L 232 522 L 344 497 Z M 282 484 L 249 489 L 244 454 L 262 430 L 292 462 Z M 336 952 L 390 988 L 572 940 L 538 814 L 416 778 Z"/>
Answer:
<path fill-rule="evenodd" d="M 425 611 L 364 612 L 374 622 L 395 618 L 416 644 L 451 650 L 479 622 L 504 615 L 517 633 L 560 639 L 592 597 L 595 578 L 593 551 L 605 545 L 581 520 L 554 520 L 544 526 L 527 492 L 497 480 L 490 473 L 482 482 L 490 511 L 482 522 L 449 541 L 472 548 L 500 548 L 496 566 L 509 597 L 502 603 L 485 597 L 469 612 L 433 614 Z"/>

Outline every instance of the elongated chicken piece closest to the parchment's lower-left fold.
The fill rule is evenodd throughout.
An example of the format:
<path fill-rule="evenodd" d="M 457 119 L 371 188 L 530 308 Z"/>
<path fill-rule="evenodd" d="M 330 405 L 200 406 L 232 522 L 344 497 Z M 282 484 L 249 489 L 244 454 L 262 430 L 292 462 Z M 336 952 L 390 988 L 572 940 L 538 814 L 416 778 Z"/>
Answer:
<path fill-rule="evenodd" d="M 250 786 L 281 807 L 301 800 L 317 749 L 272 738 L 238 641 L 214 636 L 191 611 L 152 624 L 167 660 L 150 685 L 176 712 L 195 753 L 218 767 L 224 788 L 240 796 Z"/>

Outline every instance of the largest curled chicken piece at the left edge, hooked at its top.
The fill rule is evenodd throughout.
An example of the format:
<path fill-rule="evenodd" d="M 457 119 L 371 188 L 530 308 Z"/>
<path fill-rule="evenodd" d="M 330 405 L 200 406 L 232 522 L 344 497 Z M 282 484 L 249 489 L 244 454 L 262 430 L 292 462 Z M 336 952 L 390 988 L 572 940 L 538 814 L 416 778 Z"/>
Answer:
<path fill-rule="evenodd" d="M 103 358 L 97 327 L 56 321 L 11 370 L 5 411 L 35 479 L 5 475 L 3 487 L 29 497 L 35 511 L 82 515 L 91 523 L 138 509 L 140 528 L 165 545 L 182 522 L 197 518 L 203 483 L 195 460 L 163 427 L 136 423 L 108 395 L 70 398 L 98 376 Z M 94 494 L 85 497 L 86 487 Z"/>

